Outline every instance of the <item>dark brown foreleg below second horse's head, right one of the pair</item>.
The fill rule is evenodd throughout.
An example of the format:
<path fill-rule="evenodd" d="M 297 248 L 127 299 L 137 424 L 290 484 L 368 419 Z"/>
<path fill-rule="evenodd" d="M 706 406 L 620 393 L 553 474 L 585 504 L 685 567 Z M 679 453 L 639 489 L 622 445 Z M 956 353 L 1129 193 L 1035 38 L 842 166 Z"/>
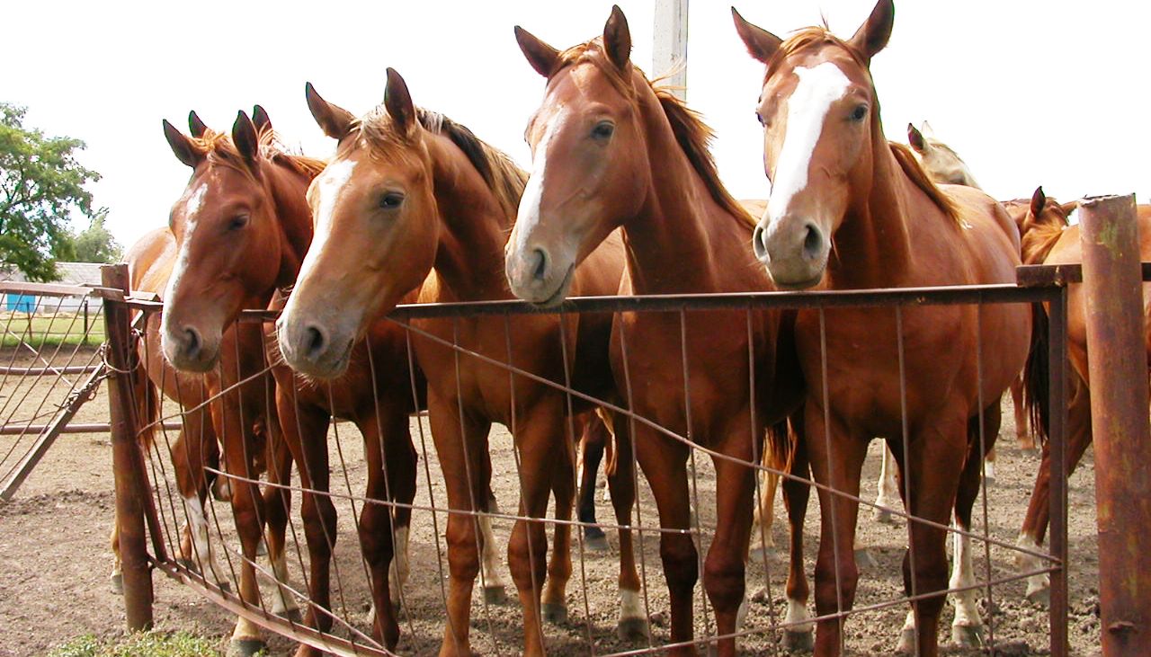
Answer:
<path fill-rule="evenodd" d="M 381 400 L 378 400 L 378 413 L 357 421 L 360 434 L 364 435 L 364 454 L 367 460 L 367 501 L 360 511 L 359 540 L 372 578 L 372 606 L 375 610 L 373 631 L 375 637 L 382 641 L 388 650 L 392 650 L 399 641 L 399 624 L 391 605 L 388 581 L 389 566 L 396 553 L 392 541 L 395 528 L 391 509 L 378 502 L 392 498 L 391 481 L 388 480 L 388 472 L 384 469 L 386 444 L 395 440 L 392 435 L 403 436 L 404 440 L 409 438 L 409 435 L 407 417 L 402 410 L 389 412 Z"/>

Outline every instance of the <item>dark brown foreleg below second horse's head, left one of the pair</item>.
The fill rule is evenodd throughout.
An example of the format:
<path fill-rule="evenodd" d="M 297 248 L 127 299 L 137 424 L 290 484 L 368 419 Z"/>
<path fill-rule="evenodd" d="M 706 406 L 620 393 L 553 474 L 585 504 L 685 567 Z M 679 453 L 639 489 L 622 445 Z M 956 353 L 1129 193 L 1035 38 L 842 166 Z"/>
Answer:
<path fill-rule="evenodd" d="M 307 542 L 308 579 L 307 611 L 304 625 L 319 631 L 331 627 L 331 593 L 329 566 L 336 541 L 336 509 L 328 491 L 328 423 L 330 415 L 314 406 L 297 406 L 295 389 L 276 387 L 276 410 L 284 443 L 291 451 L 299 472 L 300 518 Z M 315 491 L 315 492 L 313 492 Z M 318 651 L 300 645 L 297 656 L 315 656 Z"/>

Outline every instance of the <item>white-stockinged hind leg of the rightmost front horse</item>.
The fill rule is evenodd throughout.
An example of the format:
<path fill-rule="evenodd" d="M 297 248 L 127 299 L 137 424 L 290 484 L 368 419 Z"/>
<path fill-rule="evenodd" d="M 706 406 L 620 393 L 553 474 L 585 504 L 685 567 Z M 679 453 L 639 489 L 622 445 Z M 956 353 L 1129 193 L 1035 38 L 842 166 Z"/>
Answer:
<path fill-rule="evenodd" d="M 968 454 L 960 474 L 959 491 L 955 495 L 955 525 L 965 532 L 971 528 L 971 509 L 980 495 L 980 454 L 983 449 L 993 450 L 994 440 L 999 434 L 1001 411 L 999 400 L 988 406 L 980 418 L 973 418 L 968 426 Z M 980 421 L 983 422 L 983 440 L 990 444 L 981 445 Z M 971 538 L 961 534 L 952 534 L 952 571 L 950 588 L 965 588 L 975 585 L 975 570 L 971 565 Z M 954 594 L 955 619 L 951 624 L 952 641 L 965 648 L 983 645 L 983 619 L 980 618 L 977 591 L 969 588 Z"/>

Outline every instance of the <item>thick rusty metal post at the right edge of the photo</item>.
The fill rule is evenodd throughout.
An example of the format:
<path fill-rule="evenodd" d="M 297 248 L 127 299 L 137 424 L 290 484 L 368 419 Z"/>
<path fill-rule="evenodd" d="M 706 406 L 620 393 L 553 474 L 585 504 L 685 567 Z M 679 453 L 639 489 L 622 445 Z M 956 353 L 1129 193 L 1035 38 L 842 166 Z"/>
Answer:
<path fill-rule="evenodd" d="M 1135 197 L 1080 205 L 1105 657 L 1151 655 L 1151 427 Z"/>

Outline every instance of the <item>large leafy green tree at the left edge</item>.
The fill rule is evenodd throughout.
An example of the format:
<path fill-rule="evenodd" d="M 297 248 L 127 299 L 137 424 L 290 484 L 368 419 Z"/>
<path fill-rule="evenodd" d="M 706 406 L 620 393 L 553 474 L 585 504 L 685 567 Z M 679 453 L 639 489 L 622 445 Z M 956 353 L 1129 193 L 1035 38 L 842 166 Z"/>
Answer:
<path fill-rule="evenodd" d="M 0 102 L 0 263 L 51 281 L 55 261 L 74 255 L 69 216 L 93 216 L 84 185 L 100 175 L 76 161 L 84 142 L 24 128 L 25 112 Z"/>

